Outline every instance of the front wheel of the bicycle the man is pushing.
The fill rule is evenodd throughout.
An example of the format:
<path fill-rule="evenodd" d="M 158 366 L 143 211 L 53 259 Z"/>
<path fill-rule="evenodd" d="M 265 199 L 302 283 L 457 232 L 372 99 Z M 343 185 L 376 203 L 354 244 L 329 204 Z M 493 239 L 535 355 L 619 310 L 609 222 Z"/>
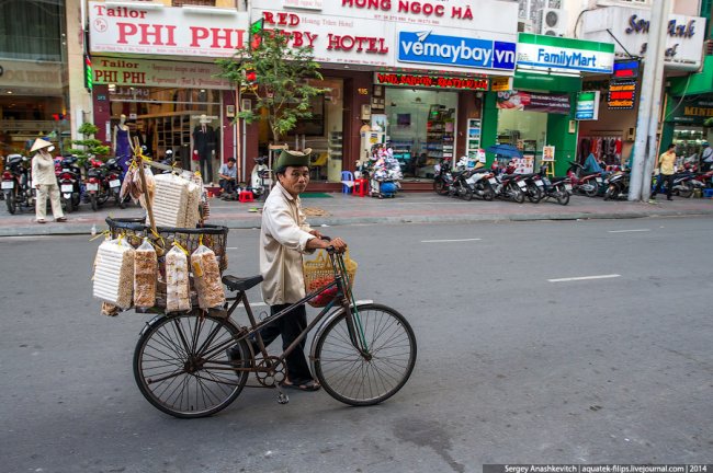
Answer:
<path fill-rule="evenodd" d="M 361 406 L 378 404 L 400 390 L 416 365 L 416 336 L 404 315 L 386 305 L 359 307 L 370 356 L 363 356 L 349 335 L 347 313 L 329 322 L 315 341 L 315 374 L 337 401 Z"/>

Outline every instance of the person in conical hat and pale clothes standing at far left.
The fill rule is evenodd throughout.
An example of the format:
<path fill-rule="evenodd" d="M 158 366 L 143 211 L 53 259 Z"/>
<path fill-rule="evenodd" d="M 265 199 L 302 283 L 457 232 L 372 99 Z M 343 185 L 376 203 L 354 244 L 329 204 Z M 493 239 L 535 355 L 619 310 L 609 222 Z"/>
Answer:
<path fill-rule="evenodd" d="M 55 175 L 55 161 L 52 152 L 55 147 L 49 141 L 37 138 L 32 145 L 30 152 L 36 154 L 32 158 L 32 183 L 37 188 L 37 199 L 35 200 L 35 217 L 37 223 L 46 223 L 47 195 L 52 204 L 52 215 L 55 221 L 65 222 L 67 218 L 61 211 L 61 201 L 59 200 L 59 185 Z"/>

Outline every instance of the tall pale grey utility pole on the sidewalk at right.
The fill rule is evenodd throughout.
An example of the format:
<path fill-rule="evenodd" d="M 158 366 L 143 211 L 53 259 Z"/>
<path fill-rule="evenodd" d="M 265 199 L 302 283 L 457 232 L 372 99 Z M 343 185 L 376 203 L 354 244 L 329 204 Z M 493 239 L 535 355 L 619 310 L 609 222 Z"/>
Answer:
<path fill-rule="evenodd" d="M 652 7 L 650 34 L 644 67 L 644 80 L 638 100 L 638 119 L 636 120 L 636 141 L 629 186 L 629 200 L 641 200 L 644 185 L 645 165 L 648 158 L 656 155 L 656 128 L 658 126 L 658 107 L 661 102 L 661 77 L 666 38 L 666 21 L 670 11 L 670 0 L 659 0 Z M 658 67 L 660 62 L 660 68 Z M 657 70 L 659 77 L 657 78 Z M 658 82 L 658 88 L 656 88 Z M 656 123 L 652 136 L 652 119 Z M 652 151 L 653 150 L 653 151 Z M 653 164 L 652 164 L 653 165 Z M 650 173 L 650 171 L 649 171 Z M 650 175 L 648 176 L 650 186 Z M 648 198 L 648 197 L 646 197 Z"/>

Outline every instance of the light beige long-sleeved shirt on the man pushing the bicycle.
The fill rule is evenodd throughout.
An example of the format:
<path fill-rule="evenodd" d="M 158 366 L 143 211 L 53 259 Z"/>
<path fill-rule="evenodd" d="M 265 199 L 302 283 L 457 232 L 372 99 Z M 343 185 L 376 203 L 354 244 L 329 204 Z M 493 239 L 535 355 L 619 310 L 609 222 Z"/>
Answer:
<path fill-rule="evenodd" d="M 302 255 L 314 252 L 306 249 L 315 238 L 309 231 L 299 197 L 292 197 L 275 184 L 262 208 L 260 230 L 262 298 L 269 305 L 294 303 L 305 297 Z"/>

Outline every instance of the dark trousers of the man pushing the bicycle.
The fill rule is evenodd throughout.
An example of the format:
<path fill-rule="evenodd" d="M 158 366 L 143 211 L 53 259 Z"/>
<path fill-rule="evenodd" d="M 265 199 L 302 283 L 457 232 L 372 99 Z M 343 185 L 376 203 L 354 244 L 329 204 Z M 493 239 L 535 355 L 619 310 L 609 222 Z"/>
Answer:
<path fill-rule="evenodd" d="M 279 304 L 270 307 L 270 314 L 274 315 L 283 309 L 288 308 L 291 304 Z M 260 331 L 262 342 L 265 346 L 270 345 L 282 335 L 282 349 L 286 349 L 292 342 L 307 327 L 307 310 L 305 305 L 298 305 L 285 315 L 267 325 Z M 294 384 L 304 384 L 312 381 L 312 372 L 305 358 L 305 344 L 306 337 L 299 342 L 299 345 L 286 357 L 287 361 L 287 379 Z"/>

